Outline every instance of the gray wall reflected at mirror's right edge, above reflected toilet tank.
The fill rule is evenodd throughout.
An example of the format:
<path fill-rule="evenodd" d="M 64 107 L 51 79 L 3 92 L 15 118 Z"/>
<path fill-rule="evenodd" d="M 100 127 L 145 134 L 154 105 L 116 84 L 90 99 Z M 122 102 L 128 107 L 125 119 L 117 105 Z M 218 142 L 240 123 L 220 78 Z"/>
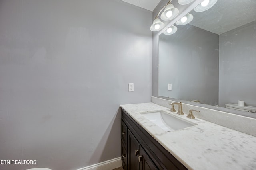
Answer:
<path fill-rule="evenodd" d="M 220 35 L 219 102 L 256 106 L 256 21 Z"/>

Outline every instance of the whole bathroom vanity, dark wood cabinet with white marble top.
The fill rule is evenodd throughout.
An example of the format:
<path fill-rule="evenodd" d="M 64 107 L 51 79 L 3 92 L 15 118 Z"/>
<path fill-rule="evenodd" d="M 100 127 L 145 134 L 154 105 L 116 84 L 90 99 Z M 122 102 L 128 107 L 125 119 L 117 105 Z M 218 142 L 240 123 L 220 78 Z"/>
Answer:
<path fill-rule="evenodd" d="M 188 119 L 154 103 L 121 105 L 124 170 L 256 169 L 256 137 L 209 121 Z M 192 123 L 166 130 L 145 113 L 163 111 Z"/>

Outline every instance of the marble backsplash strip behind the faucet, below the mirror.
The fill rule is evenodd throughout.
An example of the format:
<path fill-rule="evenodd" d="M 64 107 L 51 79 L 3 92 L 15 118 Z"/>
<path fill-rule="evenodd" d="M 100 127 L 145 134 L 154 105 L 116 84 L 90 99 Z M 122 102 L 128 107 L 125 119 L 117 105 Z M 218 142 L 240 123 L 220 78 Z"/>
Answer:
<path fill-rule="evenodd" d="M 171 105 L 168 103 L 176 102 L 172 100 L 166 100 L 162 98 L 151 97 L 151 102 L 158 104 L 160 106 L 171 108 Z M 190 104 L 184 104 L 183 112 L 184 114 L 188 114 L 190 109 L 198 110 L 199 113 L 193 112 L 195 117 L 200 119 L 204 119 L 206 121 L 210 121 L 212 123 L 216 123 L 218 125 L 228 127 L 230 129 L 234 129 L 236 131 L 240 131 L 243 133 L 247 133 L 249 135 L 256 137 L 256 119 L 250 117 L 244 117 L 232 113 L 227 113 L 223 111 L 217 111 L 213 109 L 208 109 L 205 107 L 194 106 Z M 174 108 L 176 111 L 178 110 L 178 105 L 175 105 Z"/>

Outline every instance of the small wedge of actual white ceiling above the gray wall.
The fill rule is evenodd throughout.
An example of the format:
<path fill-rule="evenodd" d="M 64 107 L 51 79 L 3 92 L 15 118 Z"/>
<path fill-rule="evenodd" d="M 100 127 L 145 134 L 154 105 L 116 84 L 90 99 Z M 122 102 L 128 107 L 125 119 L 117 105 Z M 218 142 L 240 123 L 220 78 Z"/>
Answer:
<path fill-rule="evenodd" d="M 122 1 L 153 11 L 161 0 L 122 0 Z"/>

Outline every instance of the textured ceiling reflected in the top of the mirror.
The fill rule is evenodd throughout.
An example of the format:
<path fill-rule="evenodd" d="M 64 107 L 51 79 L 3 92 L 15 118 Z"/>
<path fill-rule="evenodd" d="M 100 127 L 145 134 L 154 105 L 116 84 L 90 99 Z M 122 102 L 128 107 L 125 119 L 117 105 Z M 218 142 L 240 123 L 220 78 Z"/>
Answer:
<path fill-rule="evenodd" d="M 218 35 L 256 20 L 256 0 L 218 0 L 204 11 L 190 12 L 194 19 L 190 25 Z"/>

